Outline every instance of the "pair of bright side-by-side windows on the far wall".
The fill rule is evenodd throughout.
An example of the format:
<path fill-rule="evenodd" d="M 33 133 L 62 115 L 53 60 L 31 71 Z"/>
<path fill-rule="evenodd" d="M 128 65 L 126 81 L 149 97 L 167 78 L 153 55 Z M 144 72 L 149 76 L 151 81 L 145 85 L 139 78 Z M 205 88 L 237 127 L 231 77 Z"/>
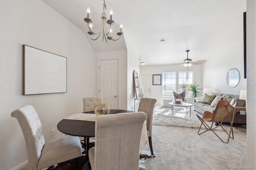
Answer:
<path fill-rule="evenodd" d="M 181 93 L 186 92 L 186 96 L 190 96 L 192 93 L 188 90 L 188 85 L 193 83 L 193 71 L 179 71 L 176 75 L 176 71 L 163 72 L 162 85 L 163 97 L 173 96 L 173 91 Z M 176 86 L 176 84 L 178 86 Z"/>

